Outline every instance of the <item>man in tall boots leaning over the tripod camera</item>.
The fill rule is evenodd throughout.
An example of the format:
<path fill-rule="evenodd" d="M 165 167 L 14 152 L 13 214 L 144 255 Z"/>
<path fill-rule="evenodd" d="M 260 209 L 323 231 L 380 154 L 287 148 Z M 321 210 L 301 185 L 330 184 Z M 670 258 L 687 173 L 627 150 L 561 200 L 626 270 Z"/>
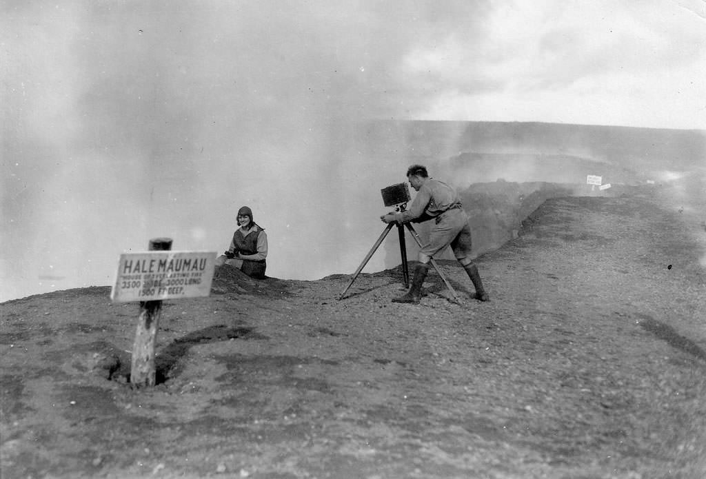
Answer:
<path fill-rule="evenodd" d="M 414 270 L 414 279 L 409 291 L 403 296 L 393 298 L 394 303 L 419 303 L 421 285 L 429 272 L 429 261 L 433 255 L 443 251 L 448 245 L 453 254 L 466 270 L 476 289 L 475 298 L 489 301 L 488 293 L 483 289 L 478 267 L 470 258 L 471 229 L 468 215 L 461 206 L 456 190 L 446 183 L 429 178 L 426 166 L 413 164 L 407 169 L 407 180 L 417 191 L 409 210 L 399 213 L 383 214 L 380 219 L 385 223 L 424 222 L 433 219 L 434 226 L 429 234 L 429 241 L 419 250 L 419 266 Z"/>

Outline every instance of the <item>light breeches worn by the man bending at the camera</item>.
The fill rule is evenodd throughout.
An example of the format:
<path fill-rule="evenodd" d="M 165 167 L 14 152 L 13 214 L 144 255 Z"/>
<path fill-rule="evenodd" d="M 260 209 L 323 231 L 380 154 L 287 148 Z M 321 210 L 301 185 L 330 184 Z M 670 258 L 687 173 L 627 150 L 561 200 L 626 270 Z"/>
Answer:
<path fill-rule="evenodd" d="M 419 261 L 429 262 L 429 258 L 443 251 L 448 245 L 457 260 L 465 260 L 471 254 L 471 229 L 468 215 L 461 209 L 445 212 L 431 229 L 429 242 L 419 250 Z"/>

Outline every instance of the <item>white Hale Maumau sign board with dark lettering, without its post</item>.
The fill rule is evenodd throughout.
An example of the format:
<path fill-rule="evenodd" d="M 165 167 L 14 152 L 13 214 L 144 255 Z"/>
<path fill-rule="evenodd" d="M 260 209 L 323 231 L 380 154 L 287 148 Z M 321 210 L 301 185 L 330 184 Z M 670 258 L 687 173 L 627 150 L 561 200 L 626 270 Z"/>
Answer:
<path fill-rule="evenodd" d="M 208 296 L 215 251 L 148 251 L 120 255 L 113 303 Z"/>

